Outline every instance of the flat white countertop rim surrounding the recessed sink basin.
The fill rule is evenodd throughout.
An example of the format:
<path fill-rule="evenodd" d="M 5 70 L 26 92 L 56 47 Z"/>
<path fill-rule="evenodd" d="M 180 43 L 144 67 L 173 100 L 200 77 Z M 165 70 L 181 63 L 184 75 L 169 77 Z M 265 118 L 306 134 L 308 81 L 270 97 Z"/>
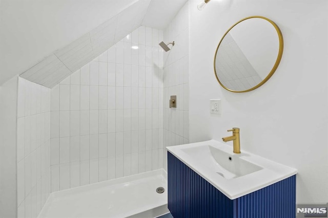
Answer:
<path fill-rule="evenodd" d="M 204 151 L 204 154 L 199 155 L 189 155 L 183 149 L 205 146 L 213 146 L 229 153 L 229 156 L 234 158 L 240 158 L 242 160 L 251 162 L 255 165 L 260 166 L 262 169 L 252 172 L 245 176 L 240 176 L 233 179 L 226 179 L 216 172 L 211 165 L 207 164 L 208 161 L 213 161 L 213 157 L 210 152 Z M 229 199 L 237 199 L 243 195 L 249 194 L 261 188 L 272 185 L 276 182 L 289 178 L 293 175 L 296 175 L 297 170 L 274 161 L 253 155 L 249 152 L 241 150 L 241 154 L 234 154 L 232 146 L 217 142 L 215 140 L 169 146 L 167 149 L 179 160 L 193 169 L 198 173 L 199 176 L 207 180 L 219 191 L 225 194 Z M 209 154 L 206 154 L 208 152 Z M 208 157 L 207 157 L 208 156 Z M 208 158 L 207 161 L 204 161 L 205 158 Z M 217 164 L 217 163 L 216 163 Z"/>

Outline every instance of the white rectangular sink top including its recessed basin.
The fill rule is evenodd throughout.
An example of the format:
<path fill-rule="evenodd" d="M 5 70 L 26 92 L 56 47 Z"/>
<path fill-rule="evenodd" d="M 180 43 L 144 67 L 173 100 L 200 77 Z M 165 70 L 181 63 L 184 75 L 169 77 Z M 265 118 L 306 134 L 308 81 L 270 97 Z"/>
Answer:
<path fill-rule="evenodd" d="M 215 140 L 167 147 L 229 199 L 236 199 L 291 177 L 297 170 Z"/>

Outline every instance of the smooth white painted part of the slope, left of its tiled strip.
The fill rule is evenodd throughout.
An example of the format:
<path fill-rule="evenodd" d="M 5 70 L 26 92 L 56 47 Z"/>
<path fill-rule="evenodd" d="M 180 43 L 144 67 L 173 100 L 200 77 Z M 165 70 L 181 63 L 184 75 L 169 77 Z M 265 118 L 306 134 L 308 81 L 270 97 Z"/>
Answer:
<path fill-rule="evenodd" d="M 134 2 L 2 0 L 0 84 L 28 70 Z"/>

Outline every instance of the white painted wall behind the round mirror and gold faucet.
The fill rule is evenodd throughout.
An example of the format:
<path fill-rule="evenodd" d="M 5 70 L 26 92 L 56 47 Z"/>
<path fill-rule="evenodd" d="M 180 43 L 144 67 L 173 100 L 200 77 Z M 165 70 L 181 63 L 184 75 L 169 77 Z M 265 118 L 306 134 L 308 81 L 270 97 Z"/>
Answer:
<path fill-rule="evenodd" d="M 297 203 L 326 203 L 327 2 L 190 1 L 190 141 L 220 141 L 240 127 L 241 148 L 298 169 Z M 262 15 L 281 29 L 284 51 L 272 78 L 249 93 L 217 83 L 213 57 L 220 38 L 243 17 Z M 222 115 L 209 113 L 220 98 Z M 232 144 L 232 143 L 228 143 Z"/>

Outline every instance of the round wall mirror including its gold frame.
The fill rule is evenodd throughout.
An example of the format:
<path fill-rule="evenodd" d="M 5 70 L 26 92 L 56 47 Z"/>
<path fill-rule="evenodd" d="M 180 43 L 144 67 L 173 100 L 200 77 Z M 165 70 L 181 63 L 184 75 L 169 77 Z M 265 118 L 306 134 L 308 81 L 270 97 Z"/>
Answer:
<path fill-rule="evenodd" d="M 274 74 L 282 50 L 282 34 L 272 20 L 246 17 L 233 25 L 217 46 L 216 79 L 231 92 L 255 90 Z"/>

